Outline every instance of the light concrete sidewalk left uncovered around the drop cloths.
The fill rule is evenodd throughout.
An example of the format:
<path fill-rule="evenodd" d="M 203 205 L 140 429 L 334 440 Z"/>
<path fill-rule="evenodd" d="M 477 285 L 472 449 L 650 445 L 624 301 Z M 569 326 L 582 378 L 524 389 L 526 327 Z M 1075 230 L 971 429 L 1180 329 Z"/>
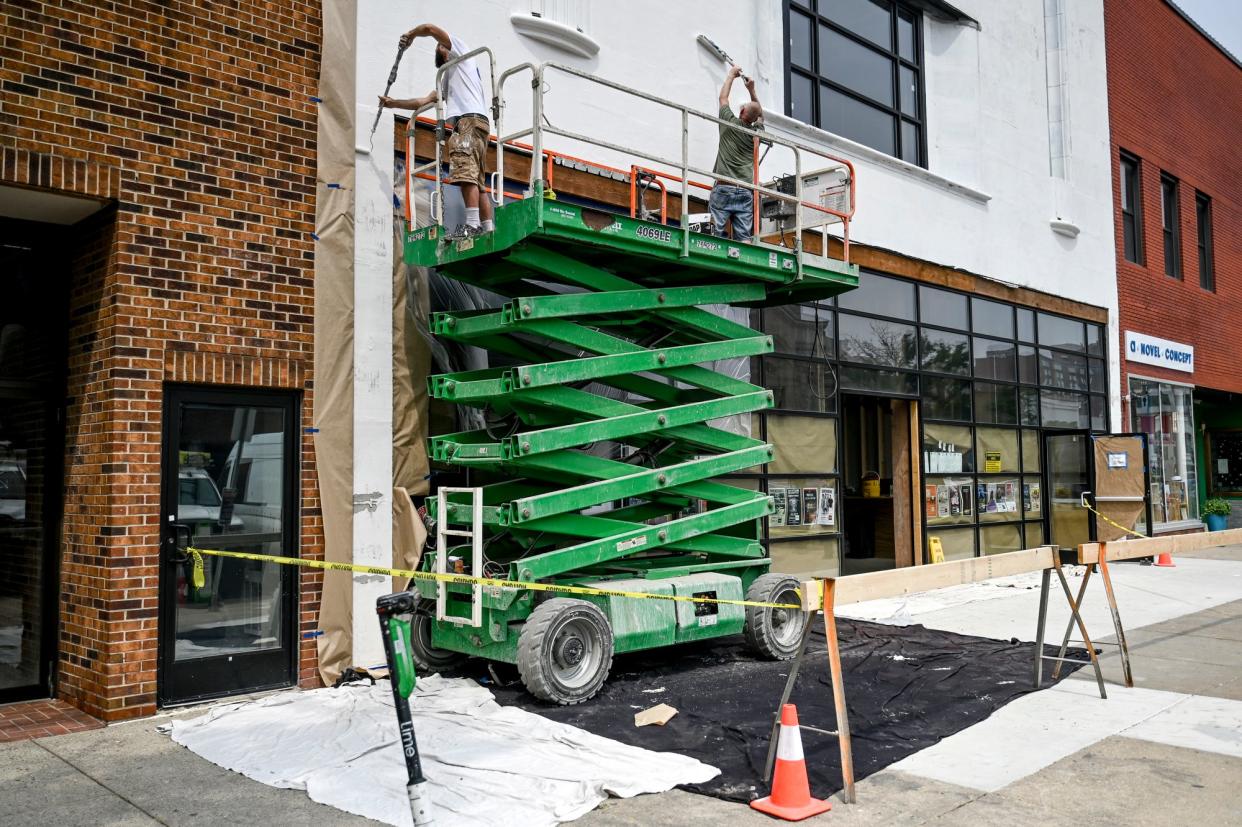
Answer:
<path fill-rule="evenodd" d="M 1199 563 L 1207 560 L 1215 563 Z M 1180 570 L 1114 565 L 1123 620 L 1128 611 L 1143 617 L 1140 600 L 1181 600 L 1184 606 L 1182 613 L 1141 628 L 1138 620 L 1128 623 L 1135 689 L 1120 685 L 1117 656 L 1107 654 L 1108 700 L 1098 698 L 1090 671 L 1083 669 L 1057 689 L 1022 698 L 863 780 L 858 803 L 835 798 L 832 812 L 814 821 L 1167 825 L 1192 818 L 1203 825 L 1237 823 L 1242 600 L 1200 610 L 1194 601 L 1169 592 L 1163 584 L 1175 582 L 1172 577 L 1158 575 L 1189 581 L 1211 574 L 1221 589 L 1240 589 L 1242 546 L 1186 555 L 1177 563 Z M 1098 599 L 1088 591 L 1088 602 Z M 1027 632 L 1021 637 L 1031 637 L 1028 601 L 1028 591 L 1013 590 L 1012 596 L 915 613 L 914 620 L 939 627 L 960 625 L 972 615 L 986 627 L 1012 617 Z M 1049 638 L 1061 622 L 1049 620 Z M 1093 630 L 1110 628 L 1089 616 L 1088 623 Z M 66 827 L 375 823 L 317 805 L 301 791 L 267 787 L 215 766 L 158 733 L 155 728 L 166 721 L 168 716 L 159 716 L 0 744 L 0 801 L 5 803 L 0 822 L 42 826 L 55 821 Z M 576 823 L 775 822 L 741 805 L 674 790 L 609 800 Z"/>

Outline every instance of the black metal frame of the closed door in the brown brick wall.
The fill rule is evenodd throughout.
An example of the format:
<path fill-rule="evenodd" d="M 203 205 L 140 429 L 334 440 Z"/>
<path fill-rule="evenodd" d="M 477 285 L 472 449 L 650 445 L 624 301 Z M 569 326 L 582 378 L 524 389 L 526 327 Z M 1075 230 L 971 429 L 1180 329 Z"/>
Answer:
<path fill-rule="evenodd" d="M 293 685 L 297 682 L 299 579 L 296 566 L 281 566 L 283 646 L 281 649 L 246 652 L 176 662 L 176 581 L 179 536 L 169 519 L 178 508 L 178 447 L 181 414 L 186 405 L 227 405 L 282 407 L 288 417 L 284 428 L 287 457 L 282 507 L 282 548 L 286 556 L 298 556 L 301 533 L 299 445 L 301 399 L 296 391 L 251 390 L 215 385 L 164 386 L 164 427 L 160 473 L 160 579 L 159 579 L 159 658 L 156 694 L 163 707 L 195 703 L 245 692 L 260 692 Z"/>

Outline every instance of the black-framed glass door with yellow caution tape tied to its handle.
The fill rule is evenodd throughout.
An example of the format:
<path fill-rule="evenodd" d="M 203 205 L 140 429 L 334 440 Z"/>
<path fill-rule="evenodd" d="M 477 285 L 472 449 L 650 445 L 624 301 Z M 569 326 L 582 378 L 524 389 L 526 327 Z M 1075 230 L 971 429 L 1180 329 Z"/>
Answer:
<path fill-rule="evenodd" d="M 297 556 L 297 399 L 170 387 L 165 405 L 160 703 L 291 685 L 294 567 L 204 558 L 195 587 L 184 549 Z"/>

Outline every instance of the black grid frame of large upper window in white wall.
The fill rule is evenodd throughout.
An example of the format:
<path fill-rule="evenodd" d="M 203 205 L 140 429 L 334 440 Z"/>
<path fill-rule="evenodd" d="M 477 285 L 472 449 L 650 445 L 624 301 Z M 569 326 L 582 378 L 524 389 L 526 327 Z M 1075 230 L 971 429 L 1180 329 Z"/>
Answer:
<path fill-rule="evenodd" d="M 851 98 L 851 99 L 853 99 L 853 101 L 856 101 L 856 102 L 858 102 L 858 103 L 861 103 L 863 106 L 867 106 L 867 107 L 871 107 L 871 108 L 877 109 L 879 112 L 883 112 L 884 114 L 887 114 L 887 115 L 889 115 L 889 117 L 893 118 L 893 153 L 889 154 L 889 153 L 887 153 L 887 151 L 884 151 L 882 149 L 876 149 L 874 147 L 871 147 L 871 149 L 876 149 L 876 151 L 883 153 L 886 155 L 889 155 L 891 158 L 895 158 L 895 159 L 902 160 L 902 161 L 904 161 L 907 164 L 912 164 L 913 163 L 914 166 L 922 166 L 923 169 L 927 169 L 928 168 L 927 82 L 925 82 L 925 77 L 924 77 L 925 61 L 924 61 L 924 50 L 923 50 L 923 12 L 922 12 L 920 7 L 917 4 L 909 2 L 908 0 L 887 0 L 891 4 L 891 11 L 889 11 L 889 21 L 891 21 L 889 34 L 891 34 L 891 40 L 889 40 L 889 48 L 886 50 L 881 45 L 878 45 L 878 43 L 868 40 L 868 38 L 863 37 L 862 35 L 854 34 L 853 31 L 851 31 L 846 26 L 843 26 L 843 25 L 833 21 L 831 17 L 827 17 L 827 16 L 820 14 L 818 6 L 820 6 L 820 2 L 822 2 L 822 1 L 823 0 L 800 0 L 800 2 L 792 4 L 791 0 L 784 0 L 782 4 L 781 4 L 782 26 L 784 26 L 784 34 L 785 34 L 785 41 L 784 41 L 785 42 L 785 48 L 784 48 L 784 57 L 785 57 L 785 109 L 784 109 L 784 112 L 785 112 L 785 114 L 789 115 L 789 117 L 791 117 L 791 118 L 795 118 L 797 120 L 801 120 L 802 123 L 806 123 L 809 125 L 828 130 L 827 127 L 823 125 L 823 123 L 825 123 L 823 114 L 822 114 L 822 112 L 820 112 L 820 89 L 822 87 L 827 87 L 828 89 L 832 89 L 833 92 L 843 94 L 843 96 L 846 96 L 846 97 L 848 97 L 848 98 Z M 807 16 L 811 17 L 811 22 L 812 22 L 812 27 L 811 27 L 811 57 L 812 57 L 812 61 L 816 63 L 816 67 L 815 67 L 814 72 L 811 72 L 810 70 L 805 70 L 802 67 L 795 67 L 794 62 L 791 60 L 790 11 L 791 11 L 791 7 L 794 5 L 797 6 L 799 14 L 805 14 L 805 15 L 807 15 Z M 900 19 L 903 16 L 905 16 L 907 20 L 909 20 L 909 21 L 913 22 L 913 31 L 914 31 L 914 58 L 915 58 L 913 61 L 907 60 L 907 58 L 902 57 L 902 55 L 900 55 L 899 26 L 900 26 Z M 877 55 L 881 55 L 881 56 L 883 56 L 883 57 L 893 61 L 893 78 L 892 78 L 893 104 L 892 106 L 887 106 L 884 103 L 881 103 L 879 101 L 876 101 L 874 98 L 871 98 L 871 97 L 866 96 L 862 92 L 854 91 L 854 89 L 852 89 L 852 88 L 850 88 L 847 86 L 837 83 L 837 82 L 827 78 L 821 72 L 821 68 L 818 66 L 818 61 L 820 61 L 820 27 L 821 26 L 825 26 L 825 27 L 830 29 L 831 31 L 833 31 L 835 34 L 837 34 L 837 35 L 840 35 L 842 37 L 846 37 L 846 38 L 848 38 L 852 42 L 854 42 L 854 43 L 857 43 L 857 45 L 859 45 L 859 46 L 862 46 L 864 48 L 868 48 L 868 50 L 876 52 Z M 909 114 L 905 114 L 905 113 L 902 112 L 902 89 L 900 89 L 902 71 L 900 70 L 903 67 L 908 68 L 908 70 L 912 70 L 915 73 L 915 78 L 918 79 L 918 92 L 915 94 L 915 98 L 917 98 L 915 99 L 915 104 L 918 107 L 918 114 L 917 115 L 909 115 Z M 811 117 L 810 117 L 810 119 L 804 119 L 801 117 L 794 115 L 794 113 L 792 113 L 792 108 L 794 108 L 794 92 L 792 92 L 794 83 L 792 83 L 792 78 L 794 78 L 795 75 L 799 76 L 799 77 L 806 78 L 806 79 L 809 79 L 812 83 L 812 88 L 814 88 L 815 93 L 814 93 L 812 101 L 811 101 Z M 903 150 L 903 129 L 902 129 L 903 122 L 913 124 L 915 127 L 917 133 L 918 133 L 918 145 L 915 148 L 918 158 L 917 158 L 915 161 L 908 161 L 908 160 L 905 160 L 902 156 L 903 155 L 903 151 L 902 151 Z M 828 130 L 828 132 L 831 132 L 831 130 Z M 857 142 L 857 143 L 862 143 L 862 142 Z M 863 144 L 863 145 L 867 145 L 867 144 Z"/>

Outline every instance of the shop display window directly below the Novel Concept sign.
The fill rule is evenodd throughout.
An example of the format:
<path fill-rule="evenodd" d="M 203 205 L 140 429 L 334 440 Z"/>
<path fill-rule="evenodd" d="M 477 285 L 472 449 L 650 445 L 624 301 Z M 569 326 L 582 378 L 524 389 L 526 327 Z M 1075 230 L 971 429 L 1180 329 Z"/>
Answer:
<path fill-rule="evenodd" d="M 1155 528 L 1197 525 L 1194 389 L 1131 376 L 1130 427 L 1148 435 Z"/>

